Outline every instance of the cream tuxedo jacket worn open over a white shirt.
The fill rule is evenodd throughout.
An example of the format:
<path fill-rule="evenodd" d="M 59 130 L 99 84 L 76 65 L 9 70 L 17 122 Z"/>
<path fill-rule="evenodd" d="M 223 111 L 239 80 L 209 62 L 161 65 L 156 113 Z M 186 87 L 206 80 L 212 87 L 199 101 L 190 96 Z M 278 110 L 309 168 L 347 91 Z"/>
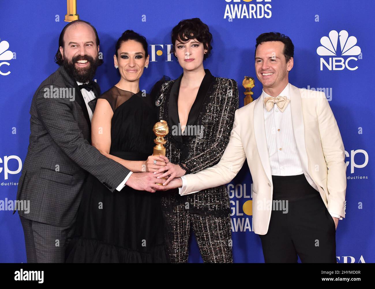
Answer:
<path fill-rule="evenodd" d="M 294 137 L 306 179 L 315 183 L 328 211 L 345 217 L 346 165 L 341 134 L 324 92 L 290 86 Z M 219 163 L 184 176 L 180 194 L 229 183 L 248 161 L 253 179 L 253 230 L 265 235 L 272 205 L 272 174 L 264 125 L 263 94 L 236 110 Z"/>

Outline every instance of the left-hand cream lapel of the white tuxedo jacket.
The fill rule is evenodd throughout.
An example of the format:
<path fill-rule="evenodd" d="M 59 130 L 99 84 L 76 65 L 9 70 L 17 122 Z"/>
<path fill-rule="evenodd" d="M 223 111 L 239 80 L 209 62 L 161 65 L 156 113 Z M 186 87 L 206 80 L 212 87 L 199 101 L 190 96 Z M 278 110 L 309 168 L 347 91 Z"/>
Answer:
<path fill-rule="evenodd" d="M 255 100 L 254 107 L 254 135 L 255 142 L 257 143 L 258 153 L 260 160 L 270 183 L 272 183 L 272 171 L 270 164 L 270 155 L 267 147 L 267 137 L 266 137 L 266 126 L 264 125 L 264 105 L 263 105 L 263 94 Z"/>

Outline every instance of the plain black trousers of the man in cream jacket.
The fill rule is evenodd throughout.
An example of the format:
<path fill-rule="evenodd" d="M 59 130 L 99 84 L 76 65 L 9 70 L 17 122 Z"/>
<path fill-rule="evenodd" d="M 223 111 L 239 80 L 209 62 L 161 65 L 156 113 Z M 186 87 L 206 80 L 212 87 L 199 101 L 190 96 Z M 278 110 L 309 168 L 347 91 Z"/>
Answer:
<path fill-rule="evenodd" d="M 303 263 L 336 263 L 335 222 L 319 192 L 303 174 L 272 176 L 272 182 L 278 206 L 273 206 L 267 234 L 260 235 L 264 261 L 293 263 L 298 254 Z"/>

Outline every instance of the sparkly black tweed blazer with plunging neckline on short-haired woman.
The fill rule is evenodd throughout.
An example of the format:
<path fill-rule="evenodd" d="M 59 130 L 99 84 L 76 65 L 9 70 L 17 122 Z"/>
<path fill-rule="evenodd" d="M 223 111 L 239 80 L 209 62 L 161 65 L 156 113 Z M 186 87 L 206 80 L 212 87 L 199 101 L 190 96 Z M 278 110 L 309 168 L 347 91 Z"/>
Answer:
<path fill-rule="evenodd" d="M 168 123 L 166 157 L 174 164 L 185 164 L 186 173 L 196 173 L 217 164 L 228 145 L 239 107 L 237 82 L 234 79 L 214 77 L 208 69 L 190 109 L 184 132 L 178 117 L 178 92 L 181 78 L 161 80 L 151 95 L 159 108 L 159 118 Z M 178 189 L 165 192 L 164 210 L 173 210 L 178 204 L 189 203 L 189 212 L 209 215 L 227 215 L 229 198 L 226 186 L 217 186 L 195 194 L 180 196 Z"/>

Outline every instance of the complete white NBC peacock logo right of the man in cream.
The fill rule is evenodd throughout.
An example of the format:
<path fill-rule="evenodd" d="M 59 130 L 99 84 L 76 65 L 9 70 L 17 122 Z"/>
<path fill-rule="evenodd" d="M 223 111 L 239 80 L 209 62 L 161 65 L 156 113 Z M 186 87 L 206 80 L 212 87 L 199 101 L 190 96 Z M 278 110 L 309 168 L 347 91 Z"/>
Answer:
<path fill-rule="evenodd" d="M 323 36 L 320 39 L 320 43 L 323 46 L 319 46 L 317 49 L 317 54 L 321 56 L 348 56 L 346 60 L 342 57 L 330 57 L 329 63 L 324 60 L 323 57 L 320 58 L 320 70 L 323 70 L 323 64 L 329 70 L 344 70 L 345 67 L 349 70 L 356 70 L 358 66 L 353 67 L 353 62 L 351 60 L 357 61 L 362 59 L 361 49 L 357 44 L 357 38 L 354 36 L 348 37 L 349 34 L 346 30 L 341 30 L 338 33 L 336 30 L 332 30 L 329 33 L 329 37 Z M 340 41 L 340 48 L 338 48 L 338 42 Z M 358 56 L 359 55 L 359 56 Z M 358 58 L 354 57 L 358 56 Z"/>

